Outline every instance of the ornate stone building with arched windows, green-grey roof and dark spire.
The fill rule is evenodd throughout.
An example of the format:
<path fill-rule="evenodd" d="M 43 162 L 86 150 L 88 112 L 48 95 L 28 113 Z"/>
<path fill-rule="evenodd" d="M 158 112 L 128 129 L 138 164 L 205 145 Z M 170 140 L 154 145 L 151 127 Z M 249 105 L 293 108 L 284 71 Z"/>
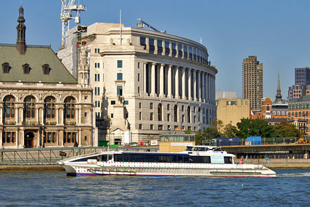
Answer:
<path fill-rule="evenodd" d="M 92 90 L 79 84 L 50 46 L 0 44 L 1 148 L 92 146 Z M 82 82 L 82 80 L 80 80 Z"/>

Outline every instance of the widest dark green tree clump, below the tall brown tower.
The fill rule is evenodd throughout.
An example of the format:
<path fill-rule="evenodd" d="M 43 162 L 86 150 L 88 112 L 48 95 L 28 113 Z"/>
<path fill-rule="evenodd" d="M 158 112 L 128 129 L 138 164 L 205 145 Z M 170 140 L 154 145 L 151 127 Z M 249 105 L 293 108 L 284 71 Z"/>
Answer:
<path fill-rule="evenodd" d="M 269 126 L 267 121 L 262 119 L 241 119 L 237 123 L 238 129 L 234 128 L 237 137 L 246 138 L 251 136 L 271 137 L 273 126 Z"/>

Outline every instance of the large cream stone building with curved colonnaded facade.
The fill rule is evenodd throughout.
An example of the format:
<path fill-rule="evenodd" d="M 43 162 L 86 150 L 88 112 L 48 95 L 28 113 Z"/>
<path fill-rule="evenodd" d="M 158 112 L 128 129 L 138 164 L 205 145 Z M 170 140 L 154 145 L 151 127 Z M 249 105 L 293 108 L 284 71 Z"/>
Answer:
<path fill-rule="evenodd" d="M 74 34 L 76 47 L 87 51 L 99 141 L 147 142 L 165 130 L 203 130 L 216 119 L 218 71 L 202 44 L 118 23 Z M 59 51 L 65 64 L 69 48 Z"/>

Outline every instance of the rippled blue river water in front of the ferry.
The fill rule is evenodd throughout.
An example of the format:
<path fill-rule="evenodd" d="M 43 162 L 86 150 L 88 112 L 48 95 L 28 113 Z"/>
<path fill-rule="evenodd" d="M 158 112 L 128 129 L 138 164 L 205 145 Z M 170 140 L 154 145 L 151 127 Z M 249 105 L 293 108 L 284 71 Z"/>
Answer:
<path fill-rule="evenodd" d="M 67 177 L 0 172 L 0 206 L 310 206 L 310 169 L 277 177 Z"/>

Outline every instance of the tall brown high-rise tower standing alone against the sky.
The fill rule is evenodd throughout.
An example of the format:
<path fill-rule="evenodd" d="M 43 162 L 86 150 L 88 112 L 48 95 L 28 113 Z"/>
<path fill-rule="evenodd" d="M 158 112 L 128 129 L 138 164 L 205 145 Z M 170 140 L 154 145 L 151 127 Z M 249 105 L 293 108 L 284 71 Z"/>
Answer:
<path fill-rule="evenodd" d="M 259 110 L 262 91 L 262 63 L 249 56 L 242 64 L 242 97 L 249 99 L 250 108 Z"/>

